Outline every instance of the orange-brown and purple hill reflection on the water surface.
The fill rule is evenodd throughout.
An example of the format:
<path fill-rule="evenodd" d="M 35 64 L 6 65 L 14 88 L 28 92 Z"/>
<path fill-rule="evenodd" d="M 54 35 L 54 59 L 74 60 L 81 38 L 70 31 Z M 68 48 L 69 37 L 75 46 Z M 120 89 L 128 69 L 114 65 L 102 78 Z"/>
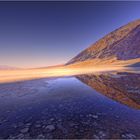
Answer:
<path fill-rule="evenodd" d="M 115 101 L 140 109 L 140 74 L 89 74 L 77 78 Z"/>

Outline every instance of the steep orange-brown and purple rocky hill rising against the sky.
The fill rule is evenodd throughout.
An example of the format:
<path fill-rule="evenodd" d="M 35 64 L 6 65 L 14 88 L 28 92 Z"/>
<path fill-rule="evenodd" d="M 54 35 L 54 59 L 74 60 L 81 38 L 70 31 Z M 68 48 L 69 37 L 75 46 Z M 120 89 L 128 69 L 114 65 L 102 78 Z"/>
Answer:
<path fill-rule="evenodd" d="M 116 29 L 109 33 L 89 48 L 79 53 L 71 59 L 68 64 L 75 64 L 84 61 L 97 60 L 100 63 L 102 60 L 127 61 L 140 60 L 140 19 L 128 23 L 125 26 Z M 115 61 L 114 61 L 115 60 Z M 140 61 L 139 61 L 140 62 Z M 133 65 L 138 66 L 138 65 Z"/>

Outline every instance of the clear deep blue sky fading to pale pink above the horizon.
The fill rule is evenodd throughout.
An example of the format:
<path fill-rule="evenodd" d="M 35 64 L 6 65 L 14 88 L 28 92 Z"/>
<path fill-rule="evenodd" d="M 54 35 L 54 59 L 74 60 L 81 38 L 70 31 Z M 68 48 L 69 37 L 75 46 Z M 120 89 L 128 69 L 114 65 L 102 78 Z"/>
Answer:
<path fill-rule="evenodd" d="M 63 64 L 140 18 L 140 1 L 0 1 L 0 65 Z"/>

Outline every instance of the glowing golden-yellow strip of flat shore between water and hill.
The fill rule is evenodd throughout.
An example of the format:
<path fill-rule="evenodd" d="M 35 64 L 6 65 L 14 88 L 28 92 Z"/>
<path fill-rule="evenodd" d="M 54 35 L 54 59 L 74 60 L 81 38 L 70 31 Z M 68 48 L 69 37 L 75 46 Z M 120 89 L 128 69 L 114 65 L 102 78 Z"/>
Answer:
<path fill-rule="evenodd" d="M 12 83 L 25 80 L 35 80 L 42 78 L 55 78 L 55 77 L 65 77 L 65 76 L 75 76 L 81 74 L 90 73 L 102 73 L 102 72 L 135 72 L 134 67 L 122 67 L 122 66 L 90 66 L 90 67 L 72 67 L 72 66 L 62 66 L 55 68 L 42 68 L 42 69 L 23 69 L 23 70 L 0 70 L 0 84 L 2 83 Z M 140 68 L 137 70 L 140 72 Z"/>

